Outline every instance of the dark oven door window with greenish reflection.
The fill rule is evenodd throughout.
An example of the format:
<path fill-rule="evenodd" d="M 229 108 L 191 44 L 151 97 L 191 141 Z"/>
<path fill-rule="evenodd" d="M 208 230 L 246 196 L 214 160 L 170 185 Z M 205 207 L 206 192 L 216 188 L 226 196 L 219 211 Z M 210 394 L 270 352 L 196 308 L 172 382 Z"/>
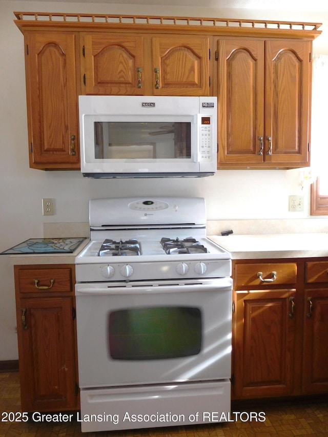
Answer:
<path fill-rule="evenodd" d="M 116 310 L 109 313 L 108 334 L 113 360 L 189 357 L 201 349 L 201 311 L 186 306 Z"/>

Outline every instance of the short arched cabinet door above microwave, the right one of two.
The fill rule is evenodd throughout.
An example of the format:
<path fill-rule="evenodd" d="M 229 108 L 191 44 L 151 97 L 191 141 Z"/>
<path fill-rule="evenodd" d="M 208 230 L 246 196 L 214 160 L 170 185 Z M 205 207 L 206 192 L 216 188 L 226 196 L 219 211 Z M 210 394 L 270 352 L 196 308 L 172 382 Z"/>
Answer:
<path fill-rule="evenodd" d="M 201 96 L 210 92 L 210 38 L 176 35 L 152 38 L 152 93 Z"/>

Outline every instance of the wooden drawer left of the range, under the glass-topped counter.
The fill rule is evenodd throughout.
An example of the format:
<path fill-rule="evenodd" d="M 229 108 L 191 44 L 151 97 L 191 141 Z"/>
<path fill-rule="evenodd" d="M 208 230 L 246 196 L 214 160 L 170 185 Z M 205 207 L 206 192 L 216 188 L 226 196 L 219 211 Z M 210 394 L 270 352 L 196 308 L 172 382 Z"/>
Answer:
<path fill-rule="evenodd" d="M 70 292 L 72 269 L 32 268 L 18 270 L 19 293 Z"/>

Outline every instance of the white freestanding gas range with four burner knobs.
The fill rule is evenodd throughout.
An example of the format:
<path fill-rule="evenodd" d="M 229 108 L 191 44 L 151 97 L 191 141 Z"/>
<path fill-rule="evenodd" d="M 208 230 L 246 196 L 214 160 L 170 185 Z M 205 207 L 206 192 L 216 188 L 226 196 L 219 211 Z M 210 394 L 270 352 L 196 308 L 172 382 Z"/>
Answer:
<path fill-rule="evenodd" d="M 224 421 L 231 258 L 206 238 L 204 199 L 93 199 L 90 236 L 75 260 L 82 431 Z"/>

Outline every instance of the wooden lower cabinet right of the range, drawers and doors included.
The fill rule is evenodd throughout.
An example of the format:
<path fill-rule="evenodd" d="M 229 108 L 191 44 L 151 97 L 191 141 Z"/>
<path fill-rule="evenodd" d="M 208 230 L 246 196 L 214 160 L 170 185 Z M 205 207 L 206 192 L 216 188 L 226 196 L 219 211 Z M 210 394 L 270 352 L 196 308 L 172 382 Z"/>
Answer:
<path fill-rule="evenodd" d="M 328 392 L 327 271 L 321 260 L 233 261 L 232 399 Z"/>

